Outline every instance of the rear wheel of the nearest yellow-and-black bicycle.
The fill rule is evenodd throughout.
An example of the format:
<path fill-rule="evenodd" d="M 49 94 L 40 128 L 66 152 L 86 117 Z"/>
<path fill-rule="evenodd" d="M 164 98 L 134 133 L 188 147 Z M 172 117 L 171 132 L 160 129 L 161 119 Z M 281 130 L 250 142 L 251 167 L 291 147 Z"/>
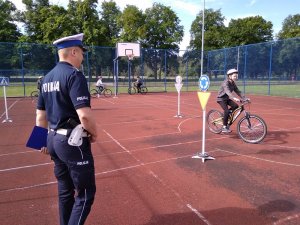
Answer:
<path fill-rule="evenodd" d="M 218 110 L 210 110 L 206 115 L 206 123 L 211 132 L 219 134 L 223 127 L 223 113 Z"/>

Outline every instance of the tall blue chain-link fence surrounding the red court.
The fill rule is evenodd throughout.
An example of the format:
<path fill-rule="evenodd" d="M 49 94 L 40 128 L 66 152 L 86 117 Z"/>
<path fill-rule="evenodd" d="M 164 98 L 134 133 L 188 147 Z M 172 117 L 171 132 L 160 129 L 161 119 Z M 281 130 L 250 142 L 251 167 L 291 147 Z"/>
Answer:
<path fill-rule="evenodd" d="M 300 97 L 299 52 L 300 38 L 207 51 L 203 74 L 210 77 L 212 91 L 218 89 L 228 69 L 237 68 L 238 84 L 245 93 Z M 0 77 L 10 81 L 8 97 L 30 96 L 37 78 L 46 75 L 58 61 L 56 49 L 42 44 L 0 43 L 0 55 Z M 200 66 L 200 51 L 141 49 L 141 57 L 129 61 L 116 59 L 115 48 L 90 47 L 82 70 L 90 87 L 101 75 L 104 83 L 117 88 L 116 93 L 127 93 L 137 76 L 149 91 L 161 92 L 176 91 L 175 77 L 181 75 L 182 91 L 195 91 Z"/>

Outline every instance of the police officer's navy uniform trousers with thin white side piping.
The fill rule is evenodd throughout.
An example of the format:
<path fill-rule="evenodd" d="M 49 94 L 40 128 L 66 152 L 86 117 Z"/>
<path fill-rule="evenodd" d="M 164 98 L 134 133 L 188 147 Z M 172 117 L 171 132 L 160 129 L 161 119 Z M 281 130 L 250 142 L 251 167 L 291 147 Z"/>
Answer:
<path fill-rule="evenodd" d="M 47 148 L 55 164 L 60 225 L 84 224 L 96 193 L 90 141 L 84 137 L 81 146 L 70 146 L 67 136 L 50 131 Z"/>

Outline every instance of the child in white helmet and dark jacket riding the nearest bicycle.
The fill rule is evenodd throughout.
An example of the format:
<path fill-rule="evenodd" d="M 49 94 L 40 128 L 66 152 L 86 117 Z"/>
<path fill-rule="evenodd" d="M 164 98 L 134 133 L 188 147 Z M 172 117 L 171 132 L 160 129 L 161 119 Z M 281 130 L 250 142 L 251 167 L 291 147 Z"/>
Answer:
<path fill-rule="evenodd" d="M 227 79 L 225 79 L 220 87 L 217 96 L 217 103 L 220 104 L 222 109 L 224 110 L 224 119 L 223 119 L 223 128 L 222 133 L 230 133 L 231 130 L 228 126 L 228 118 L 230 114 L 230 110 L 233 112 L 239 106 L 235 102 L 240 102 L 239 98 L 236 98 L 233 95 L 235 92 L 240 98 L 244 98 L 242 96 L 242 92 L 238 89 L 235 84 L 235 81 L 238 79 L 238 71 L 236 69 L 230 69 L 227 71 Z M 228 108 L 230 106 L 230 108 Z"/>

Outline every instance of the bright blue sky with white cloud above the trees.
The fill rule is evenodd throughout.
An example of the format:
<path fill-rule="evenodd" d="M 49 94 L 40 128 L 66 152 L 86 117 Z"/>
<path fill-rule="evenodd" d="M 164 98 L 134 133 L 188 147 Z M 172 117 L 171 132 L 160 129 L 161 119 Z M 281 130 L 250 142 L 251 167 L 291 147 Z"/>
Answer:
<path fill-rule="evenodd" d="M 98 5 L 105 0 L 98 0 Z M 109 1 L 109 0 L 106 0 Z M 186 50 L 190 41 L 190 28 L 197 14 L 204 8 L 221 10 L 225 17 L 227 26 L 231 19 L 245 18 L 249 16 L 262 16 L 266 21 L 273 24 L 274 35 L 282 28 L 282 22 L 289 15 L 299 14 L 299 0 L 114 0 L 120 10 L 126 5 L 135 5 L 140 10 L 145 11 L 151 8 L 154 2 L 170 7 L 178 16 L 181 25 L 184 26 L 184 37 L 180 43 L 180 49 Z M 25 7 L 22 0 L 12 1 L 20 10 Z M 52 4 L 67 7 L 68 0 L 49 0 Z"/>

